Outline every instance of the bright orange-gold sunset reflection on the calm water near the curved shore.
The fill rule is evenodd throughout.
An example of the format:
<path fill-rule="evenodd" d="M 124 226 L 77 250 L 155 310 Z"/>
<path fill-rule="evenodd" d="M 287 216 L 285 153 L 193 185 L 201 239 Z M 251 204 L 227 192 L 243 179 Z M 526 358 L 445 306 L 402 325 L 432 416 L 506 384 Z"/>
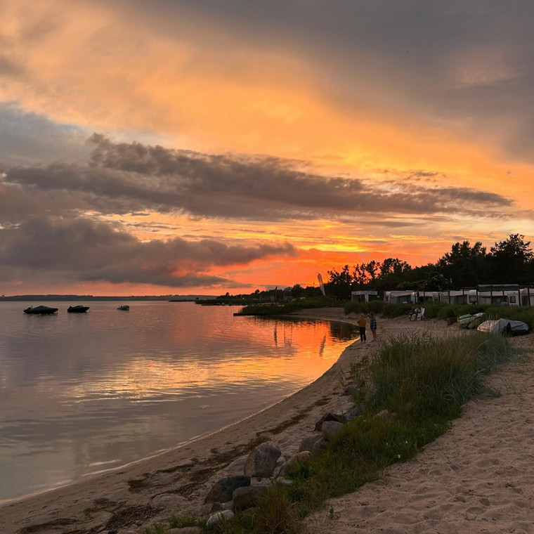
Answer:
<path fill-rule="evenodd" d="M 153 402 L 162 396 L 160 401 L 175 401 L 176 395 L 210 396 L 216 389 L 235 386 L 254 389 L 255 384 L 262 382 L 292 383 L 297 389 L 337 360 L 343 340 L 347 341 L 349 335 L 342 332 L 341 326 L 321 321 L 240 320 L 245 328 L 211 334 L 225 344 L 239 344 L 237 355 L 226 349 L 222 360 L 204 359 L 200 355 L 186 360 L 170 355 L 136 356 L 112 376 L 67 386 L 64 397 L 73 403 L 110 396 Z M 204 333 L 204 327 L 194 327 L 184 335 Z"/>

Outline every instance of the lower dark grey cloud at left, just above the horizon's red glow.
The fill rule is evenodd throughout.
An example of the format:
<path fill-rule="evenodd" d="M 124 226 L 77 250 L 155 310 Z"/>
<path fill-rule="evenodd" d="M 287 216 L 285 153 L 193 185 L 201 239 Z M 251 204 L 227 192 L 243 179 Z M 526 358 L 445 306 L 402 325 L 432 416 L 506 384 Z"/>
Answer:
<path fill-rule="evenodd" d="M 270 256 L 294 256 L 287 243 L 226 245 L 216 240 L 141 242 L 108 223 L 83 217 L 40 216 L 0 230 L 0 276 L 48 276 L 65 281 L 105 281 L 169 287 L 210 286 L 232 280 L 214 267 L 246 265 Z M 60 276 L 61 275 L 61 276 Z"/>

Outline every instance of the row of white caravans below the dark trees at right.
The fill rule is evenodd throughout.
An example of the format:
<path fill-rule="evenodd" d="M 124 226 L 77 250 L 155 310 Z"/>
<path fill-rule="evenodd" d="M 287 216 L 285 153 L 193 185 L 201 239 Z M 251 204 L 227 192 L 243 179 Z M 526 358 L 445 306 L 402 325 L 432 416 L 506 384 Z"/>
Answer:
<path fill-rule="evenodd" d="M 376 291 L 353 291 L 351 300 L 362 302 L 378 299 Z M 534 306 L 534 287 L 516 284 L 478 285 L 474 289 L 448 291 L 386 291 L 389 304 L 423 304 L 427 301 L 447 304 L 490 304 L 493 306 Z"/>

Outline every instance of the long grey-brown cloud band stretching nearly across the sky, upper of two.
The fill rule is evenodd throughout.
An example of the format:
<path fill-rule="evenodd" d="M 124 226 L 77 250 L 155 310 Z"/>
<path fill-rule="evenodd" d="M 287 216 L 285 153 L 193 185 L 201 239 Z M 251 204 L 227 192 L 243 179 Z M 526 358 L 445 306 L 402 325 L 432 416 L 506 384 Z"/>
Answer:
<path fill-rule="evenodd" d="M 93 135 L 89 162 L 4 166 L 4 218 L 39 209 L 92 209 L 105 214 L 179 211 L 212 218 L 282 221 L 363 214 L 488 214 L 512 202 L 472 188 L 444 188 L 412 179 L 374 183 L 320 176 L 274 157 L 207 155 Z M 0 186 L 2 183 L 0 182 Z M 24 195 L 32 206 L 24 207 Z M 9 209 L 11 197 L 20 203 Z M 50 203 L 50 205 L 48 205 Z M 63 206 L 62 206 L 63 204 Z M 58 213 L 58 211 L 53 211 Z M 1 220 L 1 216 L 0 216 Z"/>

